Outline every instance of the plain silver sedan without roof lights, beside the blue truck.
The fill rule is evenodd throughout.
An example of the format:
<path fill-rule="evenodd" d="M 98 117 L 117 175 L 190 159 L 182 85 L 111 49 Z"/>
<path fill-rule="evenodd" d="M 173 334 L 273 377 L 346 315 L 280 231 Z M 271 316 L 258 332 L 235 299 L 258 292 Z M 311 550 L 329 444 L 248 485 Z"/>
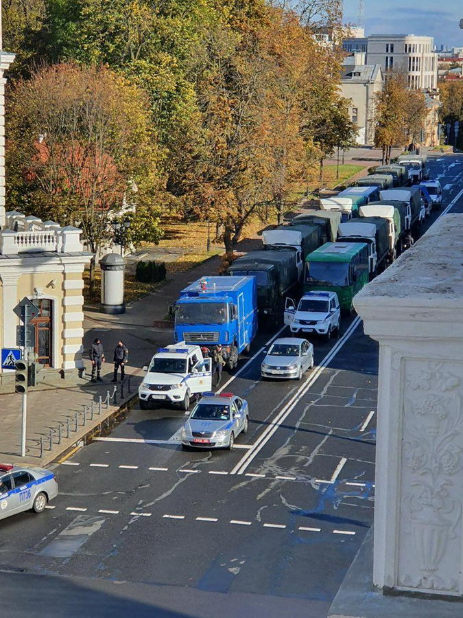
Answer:
<path fill-rule="evenodd" d="M 313 345 L 306 339 L 282 337 L 276 339 L 263 359 L 263 378 L 295 378 L 313 367 Z"/>

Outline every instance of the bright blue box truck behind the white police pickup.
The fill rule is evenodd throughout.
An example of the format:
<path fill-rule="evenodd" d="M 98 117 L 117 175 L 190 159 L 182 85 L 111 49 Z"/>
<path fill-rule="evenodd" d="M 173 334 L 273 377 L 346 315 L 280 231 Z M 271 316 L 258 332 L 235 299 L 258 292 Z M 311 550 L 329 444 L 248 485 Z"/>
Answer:
<path fill-rule="evenodd" d="M 297 273 L 294 256 L 288 255 Z M 257 333 L 257 289 L 259 281 L 266 282 L 271 275 L 271 265 L 267 266 L 268 271 L 256 271 L 255 276 L 253 272 L 245 276 L 237 268 L 237 277 L 204 277 L 182 290 L 174 306 L 175 341 L 210 349 L 220 343 L 227 368 L 235 369 L 238 355 L 249 351 Z"/>

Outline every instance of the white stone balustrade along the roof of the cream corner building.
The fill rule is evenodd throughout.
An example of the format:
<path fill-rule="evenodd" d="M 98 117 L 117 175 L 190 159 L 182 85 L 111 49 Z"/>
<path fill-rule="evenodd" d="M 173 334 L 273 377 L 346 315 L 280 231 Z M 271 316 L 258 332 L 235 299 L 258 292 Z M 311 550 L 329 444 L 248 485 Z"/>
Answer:
<path fill-rule="evenodd" d="M 0 253 L 80 252 L 84 250 L 81 233 L 81 229 L 72 225 L 60 227 L 55 221 L 44 222 L 38 217 L 10 211 L 5 214 L 5 228 L 0 231 Z"/>

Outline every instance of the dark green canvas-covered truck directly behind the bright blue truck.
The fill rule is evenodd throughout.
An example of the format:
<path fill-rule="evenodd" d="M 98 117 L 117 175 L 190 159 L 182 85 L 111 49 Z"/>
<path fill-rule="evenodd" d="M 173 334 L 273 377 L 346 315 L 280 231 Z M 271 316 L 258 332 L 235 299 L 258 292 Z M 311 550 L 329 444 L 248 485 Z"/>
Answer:
<path fill-rule="evenodd" d="M 228 274 L 255 277 L 261 326 L 281 320 L 283 299 L 300 282 L 294 249 L 250 251 L 230 265 Z"/>

